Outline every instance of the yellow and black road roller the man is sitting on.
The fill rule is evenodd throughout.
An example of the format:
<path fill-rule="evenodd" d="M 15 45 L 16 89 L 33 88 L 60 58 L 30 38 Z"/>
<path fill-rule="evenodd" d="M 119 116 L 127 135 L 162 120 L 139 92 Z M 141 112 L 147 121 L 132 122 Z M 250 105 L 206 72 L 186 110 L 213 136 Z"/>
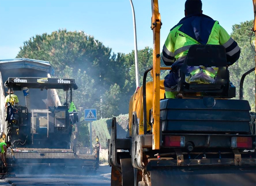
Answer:
<path fill-rule="evenodd" d="M 112 119 L 111 185 L 256 185 L 255 113 L 250 114 L 242 95 L 244 77 L 255 67 L 244 72 L 235 99 L 225 48 L 193 45 L 185 65 L 217 67 L 216 82 L 191 83 L 186 81 L 188 73 L 180 70 L 178 94 L 166 99 L 160 70 L 171 67 L 160 67 L 162 23 L 158 1 L 151 0 L 151 5 L 153 67 L 145 71 L 142 87 L 131 97 L 127 138 L 116 138 L 116 118 Z M 146 82 L 149 72 L 152 82 Z"/>

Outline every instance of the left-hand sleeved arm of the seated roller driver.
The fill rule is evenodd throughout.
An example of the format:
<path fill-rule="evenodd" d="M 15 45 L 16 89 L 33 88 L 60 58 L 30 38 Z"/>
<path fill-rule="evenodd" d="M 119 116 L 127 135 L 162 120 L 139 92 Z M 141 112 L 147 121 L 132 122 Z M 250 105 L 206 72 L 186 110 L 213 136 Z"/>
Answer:
<path fill-rule="evenodd" d="M 171 66 L 174 61 L 174 42 L 172 40 L 172 32 L 169 33 L 163 47 L 163 61 L 166 66 Z"/>

